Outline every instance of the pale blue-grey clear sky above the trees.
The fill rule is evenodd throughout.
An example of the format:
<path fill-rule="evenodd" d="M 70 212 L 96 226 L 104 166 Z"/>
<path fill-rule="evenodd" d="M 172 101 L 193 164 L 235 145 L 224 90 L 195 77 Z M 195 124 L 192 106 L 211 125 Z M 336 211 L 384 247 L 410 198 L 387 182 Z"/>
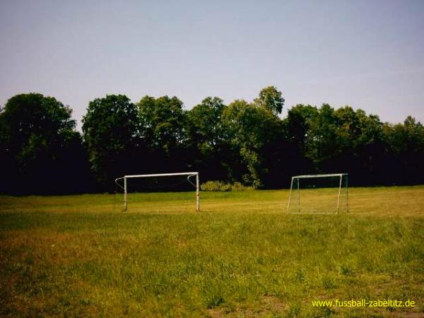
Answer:
<path fill-rule="evenodd" d="M 0 0 L 0 106 L 54 96 L 81 129 L 107 94 L 350 105 L 424 123 L 424 1 Z"/>

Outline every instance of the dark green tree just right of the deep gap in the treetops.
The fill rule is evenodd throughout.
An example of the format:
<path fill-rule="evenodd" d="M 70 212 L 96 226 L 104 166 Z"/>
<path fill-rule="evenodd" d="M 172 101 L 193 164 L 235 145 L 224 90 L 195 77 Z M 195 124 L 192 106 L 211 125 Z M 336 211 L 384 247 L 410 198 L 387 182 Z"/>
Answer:
<path fill-rule="evenodd" d="M 136 105 L 125 95 L 91 101 L 83 117 L 83 139 L 98 184 L 111 191 L 114 178 L 131 170 L 131 153 L 139 145 Z"/>

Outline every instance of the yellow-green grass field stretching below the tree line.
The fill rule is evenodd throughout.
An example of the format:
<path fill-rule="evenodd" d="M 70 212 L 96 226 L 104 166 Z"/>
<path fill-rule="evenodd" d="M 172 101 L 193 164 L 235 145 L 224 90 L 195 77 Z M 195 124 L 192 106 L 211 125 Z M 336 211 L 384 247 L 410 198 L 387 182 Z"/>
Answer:
<path fill-rule="evenodd" d="M 315 190 L 317 201 L 326 192 Z M 0 316 L 423 317 L 424 186 L 353 188 L 350 213 L 288 191 L 0 196 Z M 312 300 L 413 300 L 413 308 Z"/>

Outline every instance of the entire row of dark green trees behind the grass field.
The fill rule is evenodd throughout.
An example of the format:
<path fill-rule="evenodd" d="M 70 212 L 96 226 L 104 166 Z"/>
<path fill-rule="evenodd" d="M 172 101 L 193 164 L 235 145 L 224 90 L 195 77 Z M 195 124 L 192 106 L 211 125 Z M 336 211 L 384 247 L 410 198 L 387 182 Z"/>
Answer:
<path fill-rule="evenodd" d="M 359 186 L 424 183 L 424 127 L 389 124 L 346 106 L 295 105 L 281 118 L 275 87 L 252 102 L 208 97 L 191 110 L 177 97 L 89 102 L 82 134 L 71 108 L 38 93 L 0 108 L 0 192 L 113 192 L 123 175 L 199 171 L 201 181 L 288 187 L 290 177 L 348 172 Z"/>

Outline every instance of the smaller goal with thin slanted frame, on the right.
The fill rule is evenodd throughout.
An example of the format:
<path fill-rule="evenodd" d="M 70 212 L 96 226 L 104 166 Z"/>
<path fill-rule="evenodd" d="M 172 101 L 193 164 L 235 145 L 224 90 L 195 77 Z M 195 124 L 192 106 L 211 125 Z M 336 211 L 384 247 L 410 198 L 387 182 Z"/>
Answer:
<path fill-rule="evenodd" d="M 347 173 L 292 177 L 288 213 L 337 214 L 340 211 L 349 211 Z"/>

